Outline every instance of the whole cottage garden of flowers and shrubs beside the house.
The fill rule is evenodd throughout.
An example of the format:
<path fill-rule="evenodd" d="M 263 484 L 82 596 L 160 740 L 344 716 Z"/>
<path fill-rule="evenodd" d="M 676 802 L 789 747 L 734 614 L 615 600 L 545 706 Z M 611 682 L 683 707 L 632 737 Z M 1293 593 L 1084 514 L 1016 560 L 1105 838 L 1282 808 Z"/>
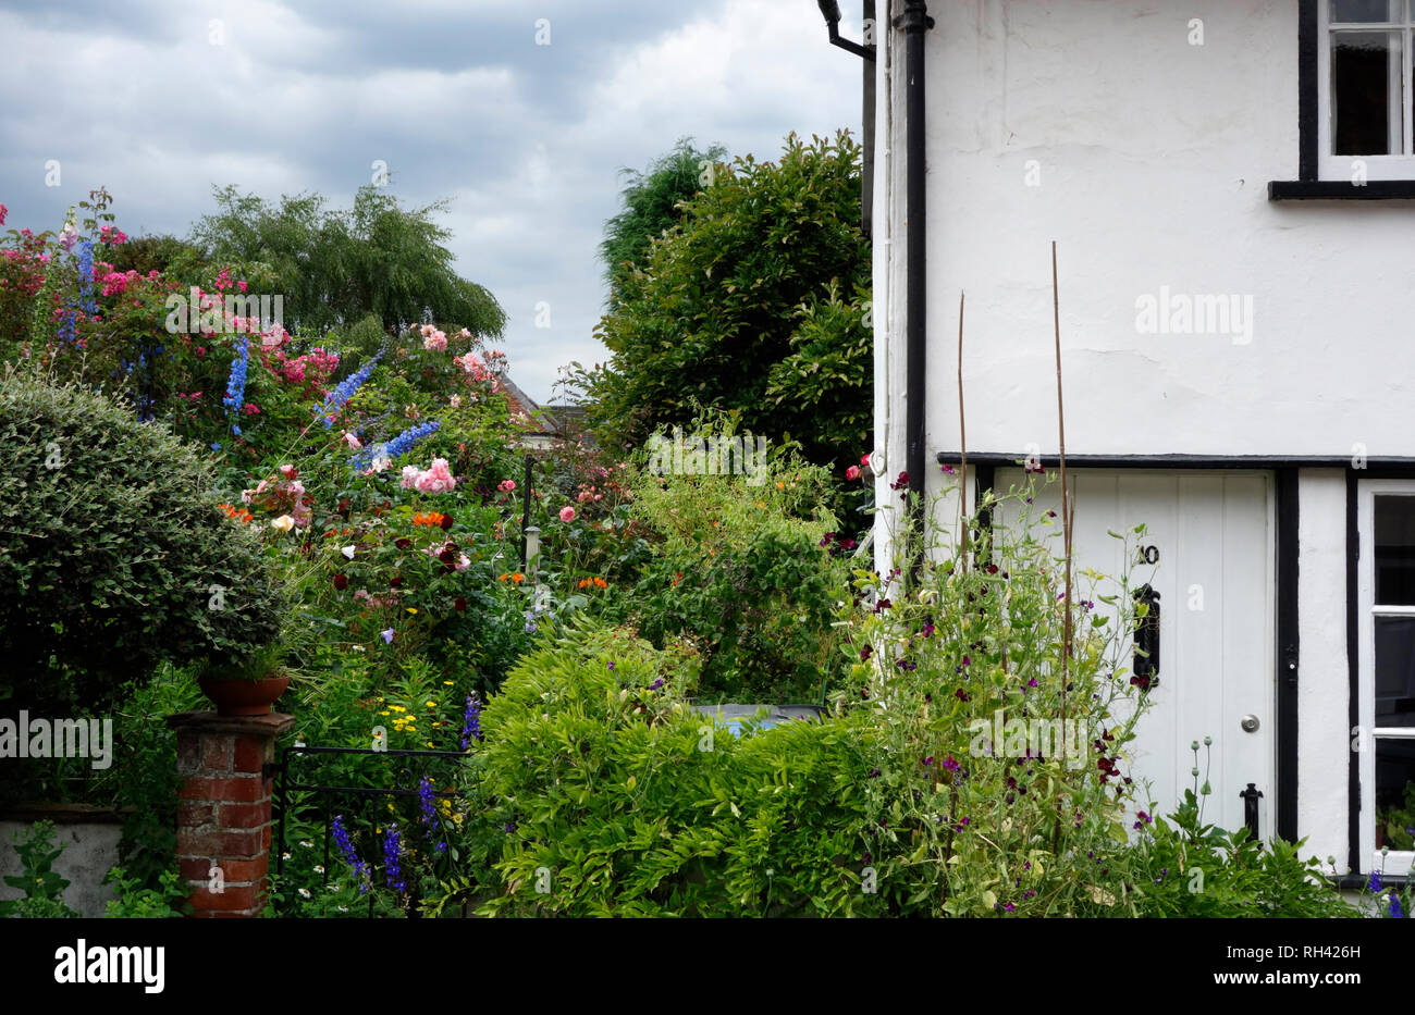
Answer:
<path fill-rule="evenodd" d="M 1199 739 L 1149 799 L 1128 577 L 1073 575 L 1033 486 L 876 570 L 910 495 L 874 503 L 867 455 L 773 440 L 749 483 L 535 447 L 494 301 L 287 331 L 246 300 L 277 266 L 133 246 L 102 192 L 0 239 L 0 712 L 112 721 L 105 768 L 0 725 L 0 803 L 123 816 L 109 915 L 188 912 L 166 717 L 232 684 L 318 762 L 277 794 L 267 916 L 1408 912 L 1206 823 Z M 72 912 L 52 837 L 4 844 L 0 910 Z"/>

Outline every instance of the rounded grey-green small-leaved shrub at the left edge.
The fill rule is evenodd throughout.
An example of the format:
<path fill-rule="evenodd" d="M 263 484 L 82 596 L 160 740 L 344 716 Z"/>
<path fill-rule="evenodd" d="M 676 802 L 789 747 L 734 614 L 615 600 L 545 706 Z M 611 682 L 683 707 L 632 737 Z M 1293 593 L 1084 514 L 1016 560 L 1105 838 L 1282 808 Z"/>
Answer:
<path fill-rule="evenodd" d="M 163 424 L 21 370 L 0 376 L 0 653 L 21 704 L 112 701 L 161 659 L 269 642 L 259 537 Z"/>

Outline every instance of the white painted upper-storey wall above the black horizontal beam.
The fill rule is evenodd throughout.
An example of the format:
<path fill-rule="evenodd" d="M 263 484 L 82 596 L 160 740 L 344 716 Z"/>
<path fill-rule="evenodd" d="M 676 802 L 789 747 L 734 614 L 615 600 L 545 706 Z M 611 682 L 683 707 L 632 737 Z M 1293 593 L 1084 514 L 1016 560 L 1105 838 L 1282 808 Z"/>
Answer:
<path fill-rule="evenodd" d="M 931 448 L 958 444 L 962 288 L 969 447 L 1054 452 L 1054 239 L 1070 452 L 1411 454 L 1415 206 L 1266 198 L 1269 180 L 1298 172 L 1295 1 L 949 0 L 930 13 Z M 1201 47 L 1189 44 L 1196 17 Z M 877 156 L 899 157 L 880 174 L 896 189 L 876 256 L 893 310 L 903 35 L 880 35 L 896 99 Z M 1026 185 L 1029 160 L 1040 187 Z M 1251 341 L 1138 334 L 1136 300 L 1162 286 L 1251 297 Z M 882 373 L 899 387 L 879 397 L 901 418 L 903 315 L 880 327 Z"/>

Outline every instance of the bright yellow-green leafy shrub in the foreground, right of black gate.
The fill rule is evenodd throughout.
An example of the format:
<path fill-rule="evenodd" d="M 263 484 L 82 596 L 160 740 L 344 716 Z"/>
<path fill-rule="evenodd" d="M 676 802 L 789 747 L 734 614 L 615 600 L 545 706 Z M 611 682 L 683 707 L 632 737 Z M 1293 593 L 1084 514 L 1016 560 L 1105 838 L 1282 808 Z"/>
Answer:
<path fill-rule="evenodd" d="M 466 841 L 495 871 L 481 912 L 877 910 L 860 886 L 867 731 L 832 720 L 737 739 L 683 704 L 696 670 L 681 646 L 579 621 L 511 671 L 470 773 L 485 819 Z"/>

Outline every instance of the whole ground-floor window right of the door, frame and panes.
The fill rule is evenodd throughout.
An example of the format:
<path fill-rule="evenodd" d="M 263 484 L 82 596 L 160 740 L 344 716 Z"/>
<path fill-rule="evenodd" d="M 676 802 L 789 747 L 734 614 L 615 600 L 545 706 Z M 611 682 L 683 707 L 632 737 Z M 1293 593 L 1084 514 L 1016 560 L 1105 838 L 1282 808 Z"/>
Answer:
<path fill-rule="evenodd" d="M 1415 858 L 1415 482 L 1358 498 L 1361 872 L 1408 875 Z M 1390 850 L 1384 861 L 1381 848 Z"/>

